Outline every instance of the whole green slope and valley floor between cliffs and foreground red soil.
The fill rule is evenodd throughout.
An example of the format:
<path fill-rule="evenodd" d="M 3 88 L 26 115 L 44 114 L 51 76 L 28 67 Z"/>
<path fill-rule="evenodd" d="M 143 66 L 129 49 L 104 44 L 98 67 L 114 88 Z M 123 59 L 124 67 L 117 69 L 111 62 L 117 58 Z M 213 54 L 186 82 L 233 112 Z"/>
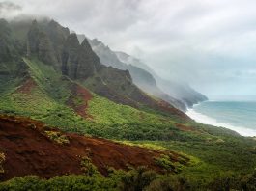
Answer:
<path fill-rule="evenodd" d="M 256 166 L 255 141 L 231 131 L 187 123 L 194 131 L 176 127 L 176 119 L 150 111 L 139 111 L 94 95 L 87 108 L 92 116 L 83 119 L 65 103 L 71 95 L 71 80 L 37 60 L 26 60 L 37 86 L 30 94 L 17 92 L 23 79 L 10 79 L 0 94 L 0 112 L 29 116 L 63 130 L 93 134 L 133 143 L 145 143 L 196 156 L 199 162 L 184 170 L 190 178 L 209 181 L 225 171 L 248 173 Z"/>

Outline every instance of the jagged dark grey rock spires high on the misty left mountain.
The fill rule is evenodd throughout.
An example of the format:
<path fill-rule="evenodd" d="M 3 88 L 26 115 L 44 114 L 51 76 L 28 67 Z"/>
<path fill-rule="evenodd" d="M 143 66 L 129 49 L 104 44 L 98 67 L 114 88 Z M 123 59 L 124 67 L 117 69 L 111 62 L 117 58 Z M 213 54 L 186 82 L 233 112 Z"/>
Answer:
<path fill-rule="evenodd" d="M 61 69 L 71 79 L 85 80 L 100 70 L 100 59 L 88 41 L 79 41 L 69 29 L 55 21 L 40 25 L 33 21 L 28 31 L 27 55 L 37 56 L 43 63 Z"/>

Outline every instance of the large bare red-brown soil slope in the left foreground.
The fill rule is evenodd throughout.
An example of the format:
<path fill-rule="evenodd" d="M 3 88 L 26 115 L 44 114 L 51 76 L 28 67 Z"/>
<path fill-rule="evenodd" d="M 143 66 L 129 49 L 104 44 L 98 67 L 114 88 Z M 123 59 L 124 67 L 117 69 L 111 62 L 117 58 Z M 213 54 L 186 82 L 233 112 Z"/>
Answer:
<path fill-rule="evenodd" d="M 147 166 L 161 172 L 155 157 L 165 153 L 173 161 L 179 158 L 175 152 L 130 147 L 71 133 L 62 133 L 70 143 L 60 145 L 45 136 L 44 130 L 48 129 L 43 123 L 30 119 L 0 116 L 0 150 L 6 155 L 5 173 L 0 180 L 26 175 L 49 178 L 82 174 L 80 162 L 83 156 L 90 157 L 103 175 L 107 174 L 107 167 L 127 170 L 128 165 Z"/>

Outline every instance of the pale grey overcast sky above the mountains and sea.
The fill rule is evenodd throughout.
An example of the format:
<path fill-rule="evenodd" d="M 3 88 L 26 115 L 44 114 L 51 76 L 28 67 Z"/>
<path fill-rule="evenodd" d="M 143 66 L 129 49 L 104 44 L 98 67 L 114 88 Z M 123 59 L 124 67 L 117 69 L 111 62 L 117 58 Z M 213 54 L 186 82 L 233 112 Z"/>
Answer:
<path fill-rule="evenodd" d="M 52 17 L 211 97 L 256 95 L 255 9 L 255 0 L 10 0 L 0 16 Z"/>

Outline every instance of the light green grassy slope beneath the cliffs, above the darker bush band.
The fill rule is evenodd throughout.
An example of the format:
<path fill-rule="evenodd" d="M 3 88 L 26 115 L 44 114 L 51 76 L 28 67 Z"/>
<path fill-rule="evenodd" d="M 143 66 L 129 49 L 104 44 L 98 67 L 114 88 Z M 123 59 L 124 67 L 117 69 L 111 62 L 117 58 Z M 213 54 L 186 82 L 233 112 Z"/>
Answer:
<path fill-rule="evenodd" d="M 0 96 L 0 109 L 3 113 L 29 116 L 53 126 L 86 132 L 91 126 L 112 126 L 129 123 L 173 125 L 170 119 L 159 114 L 139 111 L 129 106 L 116 104 L 106 98 L 95 95 L 89 102 L 88 113 L 92 118 L 85 120 L 74 113 L 66 105 L 71 95 L 70 79 L 65 78 L 51 66 L 44 65 L 38 60 L 24 59 L 29 68 L 29 76 L 36 82 L 30 93 L 17 91 L 17 83 L 10 81 Z M 18 81 L 25 81 L 19 79 Z M 7 91 L 8 90 L 8 91 Z M 100 129 L 99 129 L 100 131 Z M 95 132 L 96 135 L 98 134 Z"/>

